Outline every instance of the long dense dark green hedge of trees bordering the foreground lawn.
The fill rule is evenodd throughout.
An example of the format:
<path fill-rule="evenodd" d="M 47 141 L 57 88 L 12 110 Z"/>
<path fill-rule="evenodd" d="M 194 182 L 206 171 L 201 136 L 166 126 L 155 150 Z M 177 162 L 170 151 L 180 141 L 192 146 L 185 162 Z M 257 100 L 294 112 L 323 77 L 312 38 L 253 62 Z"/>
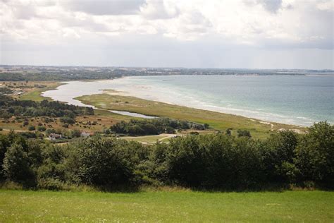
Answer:
<path fill-rule="evenodd" d="M 0 135 L 1 178 L 27 187 L 102 188 L 142 183 L 196 188 L 253 188 L 313 182 L 333 186 L 334 126 L 316 123 L 305 135 L 285 131 L 266 140 L 247 135 L 188 135 L 142 145 L 96 136 L 56 146 Z"/>

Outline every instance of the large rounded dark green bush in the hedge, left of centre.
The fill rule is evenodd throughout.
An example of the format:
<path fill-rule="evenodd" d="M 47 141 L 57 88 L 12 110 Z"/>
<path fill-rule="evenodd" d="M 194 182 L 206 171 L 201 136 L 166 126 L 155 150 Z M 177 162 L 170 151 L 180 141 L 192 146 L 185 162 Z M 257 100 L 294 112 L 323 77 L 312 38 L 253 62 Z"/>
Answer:
<path fill-rule="evenodd" d="M 128 143 L 100 137 L 82 141 L 71 153 L 70 169 L 82 183 L 97 186 L 119 186 L 134 179 L 134 163 L 129 156 Z"/>

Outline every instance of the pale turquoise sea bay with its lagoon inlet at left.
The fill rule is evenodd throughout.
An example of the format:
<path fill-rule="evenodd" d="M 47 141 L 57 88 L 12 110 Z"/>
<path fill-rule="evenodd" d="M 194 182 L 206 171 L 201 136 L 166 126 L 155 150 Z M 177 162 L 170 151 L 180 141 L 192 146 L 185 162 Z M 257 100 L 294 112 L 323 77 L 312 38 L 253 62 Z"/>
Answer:
<path fill-rule="evenodd" d="M 45 96 L 80 104 L 73 97 L 104 89 L 187 107 L 309 126 L 334 123 L 334 76 L 140 76 L 68 82 Z"/>

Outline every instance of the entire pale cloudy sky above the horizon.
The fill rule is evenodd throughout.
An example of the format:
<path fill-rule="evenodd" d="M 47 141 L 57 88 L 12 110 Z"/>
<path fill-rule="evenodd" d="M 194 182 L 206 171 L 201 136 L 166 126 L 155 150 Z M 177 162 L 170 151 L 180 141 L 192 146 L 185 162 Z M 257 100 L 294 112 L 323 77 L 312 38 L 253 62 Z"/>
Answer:
<path fill-rule="evenodd" d="M 333 69 L 332 0 L 0 0 L 0 64 Z"/>

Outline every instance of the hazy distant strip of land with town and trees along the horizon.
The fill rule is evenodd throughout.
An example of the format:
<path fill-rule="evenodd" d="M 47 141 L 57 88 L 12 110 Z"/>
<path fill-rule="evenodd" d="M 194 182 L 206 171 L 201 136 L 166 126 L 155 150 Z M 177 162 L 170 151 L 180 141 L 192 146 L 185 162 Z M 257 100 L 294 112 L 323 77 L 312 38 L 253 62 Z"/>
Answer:
<path fill-rule="evenodd" d="M 85 80 L 162 75 L 333 75 L 333 70 L 0 65 L 0 81 Z"/>

